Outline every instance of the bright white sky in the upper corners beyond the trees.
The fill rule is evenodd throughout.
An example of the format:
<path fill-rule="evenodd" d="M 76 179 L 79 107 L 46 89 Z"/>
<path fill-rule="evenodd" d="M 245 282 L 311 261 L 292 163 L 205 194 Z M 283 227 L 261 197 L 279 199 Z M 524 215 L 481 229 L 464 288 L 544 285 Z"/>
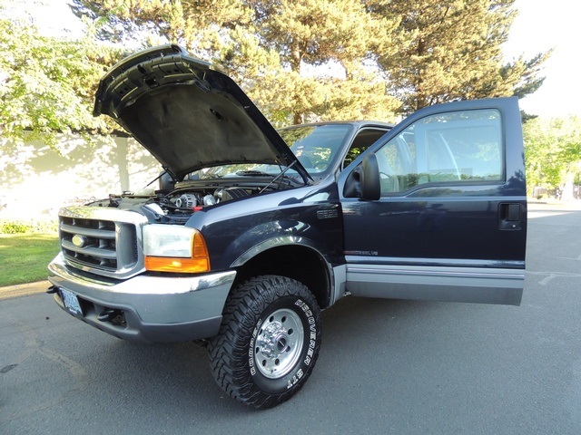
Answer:
<path fill-rule="evenodd" d="M 15 0 L 34 4 L 36 24 L 44 32 L 78 34 L 83 26 L 70 13 L 67 0 Z M 505 45 L 507 60 L 525 59 L 553 49 L 545 63 L 543 86 L 520 101 L 521 109 L 541 117 L 581 116 L 581 84 L 578 60 L 581 45 L 581 2 L 578 0 L 517 0 L 518 16 Z"/>

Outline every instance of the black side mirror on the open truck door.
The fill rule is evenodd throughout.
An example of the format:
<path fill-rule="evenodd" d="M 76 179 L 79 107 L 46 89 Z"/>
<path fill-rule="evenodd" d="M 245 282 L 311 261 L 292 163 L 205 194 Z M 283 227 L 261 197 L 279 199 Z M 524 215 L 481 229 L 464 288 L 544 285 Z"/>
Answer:
<path fill-rule="evenodd" d="M 381 197 L 378 158 L 368 154 L 357 168 L 353 169 L 345 182 L 343 195 L 346 198 L 360 198 L 375 201 Z"/>

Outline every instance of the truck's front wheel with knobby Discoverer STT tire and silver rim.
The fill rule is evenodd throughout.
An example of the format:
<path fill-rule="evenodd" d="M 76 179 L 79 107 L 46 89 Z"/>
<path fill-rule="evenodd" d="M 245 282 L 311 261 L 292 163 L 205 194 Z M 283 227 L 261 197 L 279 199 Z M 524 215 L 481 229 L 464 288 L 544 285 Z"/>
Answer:
<path fill-rule="evenodd" d="M 320 308 L 291 278 L 263 275 L 234 289 L 209 345 L 212 374 L 232 398 L 270 408 L 300 390 L 320 349 Z"/>

